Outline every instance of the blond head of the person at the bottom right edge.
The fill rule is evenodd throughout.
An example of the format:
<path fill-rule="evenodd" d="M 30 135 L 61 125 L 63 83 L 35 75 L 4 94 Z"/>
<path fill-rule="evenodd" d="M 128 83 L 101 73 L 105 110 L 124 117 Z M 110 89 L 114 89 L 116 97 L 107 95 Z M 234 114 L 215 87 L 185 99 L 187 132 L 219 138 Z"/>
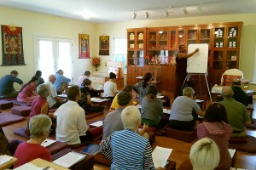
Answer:
<path fill-rule="evenodd" d="M 218 145 L 212 139 L 200 139 L 192 145 L 189 159 L 193 170 L 213 170 L 220 159 Z"/>

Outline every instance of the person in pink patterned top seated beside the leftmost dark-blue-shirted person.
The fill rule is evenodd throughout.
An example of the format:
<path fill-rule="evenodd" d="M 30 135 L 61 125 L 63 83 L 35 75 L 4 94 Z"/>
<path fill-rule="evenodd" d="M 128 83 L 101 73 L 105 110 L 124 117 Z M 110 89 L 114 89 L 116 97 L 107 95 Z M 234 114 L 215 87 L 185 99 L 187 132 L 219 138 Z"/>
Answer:
<path fill-rule="evenodd" d="M 22 103 L 32 103 L 38 96 L 36 93 L 37 84 L 38 77 L 32 77 L 32 79 L 21 88 L 17 100 Z"/>

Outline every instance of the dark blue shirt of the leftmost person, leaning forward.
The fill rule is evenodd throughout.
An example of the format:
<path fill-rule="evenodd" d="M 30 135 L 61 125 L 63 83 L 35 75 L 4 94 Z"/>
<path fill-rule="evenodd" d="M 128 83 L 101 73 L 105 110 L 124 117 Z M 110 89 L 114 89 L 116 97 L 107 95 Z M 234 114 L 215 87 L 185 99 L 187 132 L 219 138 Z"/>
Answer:
<path fill-rule="evenodd" d="M 2 77 L 0 80 L 0 94 L 6 95 L 11 94 L 13 91 L 15 91 L 14 82 L 17 82 L 19 84 L 23 83 L 20 78 L 14 77 L 12 75 L 6 75 Z"/>

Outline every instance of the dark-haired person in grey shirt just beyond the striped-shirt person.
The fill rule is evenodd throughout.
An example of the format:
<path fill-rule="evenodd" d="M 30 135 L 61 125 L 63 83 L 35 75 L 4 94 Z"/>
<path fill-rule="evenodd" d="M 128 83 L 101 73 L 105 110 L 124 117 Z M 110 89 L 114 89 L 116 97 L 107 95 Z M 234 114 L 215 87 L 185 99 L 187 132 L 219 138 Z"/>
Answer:
<path fill-rule="evenodd" d="M 117 110 L 109 112 L 108 115 L 105 117 L 103 123 L 102 139 L 106 139 L 114 131 L 124 130 L 124 125 L 121 120 L 121 113 L 127 106 L 130 105 L 131 94 L 125 91 L 121 91 L 115 98 L 117 98 L 119 107 L 117 108 Z"/>

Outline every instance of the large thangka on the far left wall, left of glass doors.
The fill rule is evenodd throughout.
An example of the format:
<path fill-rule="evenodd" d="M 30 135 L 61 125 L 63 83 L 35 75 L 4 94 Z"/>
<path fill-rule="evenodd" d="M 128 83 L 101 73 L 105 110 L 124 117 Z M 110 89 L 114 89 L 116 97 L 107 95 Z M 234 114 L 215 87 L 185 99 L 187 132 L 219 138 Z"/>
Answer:
<path fill-rule="evenodd" d="M 5 65 L 26 65 L 23 51 L 22 28 L 1 25 L 3 60 Z"/>

